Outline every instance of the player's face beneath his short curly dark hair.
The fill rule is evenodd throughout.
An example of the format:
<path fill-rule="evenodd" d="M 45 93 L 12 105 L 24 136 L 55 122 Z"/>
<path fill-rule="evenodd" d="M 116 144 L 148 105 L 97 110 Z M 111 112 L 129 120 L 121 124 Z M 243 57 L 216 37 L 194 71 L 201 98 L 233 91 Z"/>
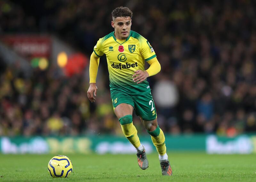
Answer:
<path fill-rule="evenodd" d="M 131 31 L 132 19 L 131 17 L 116 17 L 111 22 L 113 28 L 115 28 L 116 39 L 126 39 Z"/>

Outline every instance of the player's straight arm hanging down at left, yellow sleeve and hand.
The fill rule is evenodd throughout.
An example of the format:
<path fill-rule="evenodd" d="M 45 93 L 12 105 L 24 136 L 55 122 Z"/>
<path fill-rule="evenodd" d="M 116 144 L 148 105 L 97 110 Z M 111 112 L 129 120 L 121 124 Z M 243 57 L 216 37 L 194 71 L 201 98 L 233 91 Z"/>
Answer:
<path fill-rule="evenodd" d="M 98 67 L 100 63 L 100 57 L 98 57 L 94 52 L 92 52 L 92 55 L 90 57 L 90 87 L 87 91 L 87 96 L 91 102 L 95 102 L 95 97 L 97 94 L 97 86 L 96 86 L 96 77 L 98 73 Z M 94 92 L 94 96 L 93 96 Z"/>

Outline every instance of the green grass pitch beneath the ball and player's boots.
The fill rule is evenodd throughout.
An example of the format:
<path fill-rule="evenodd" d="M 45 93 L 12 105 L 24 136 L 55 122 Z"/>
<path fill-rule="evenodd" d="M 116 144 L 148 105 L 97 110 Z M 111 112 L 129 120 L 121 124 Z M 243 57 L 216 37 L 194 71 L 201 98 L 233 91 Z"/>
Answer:
<path fill-rule="evenodd" d="M 196 152 L 168 152 L 173 170 L 172 177 L 162 176 L 158 154 L 156 153 L 147 155 L 149 168 L 146 170 L 139 168 L 136 154 L 66 155 L 73 163 L 72 174 L 69 178 L 52 178 L 48 173 L 47 164 L 54 155 L 0 154 L 0 181 L 256 181 L 256 155 L 207 155 L 205 153 Z"/>

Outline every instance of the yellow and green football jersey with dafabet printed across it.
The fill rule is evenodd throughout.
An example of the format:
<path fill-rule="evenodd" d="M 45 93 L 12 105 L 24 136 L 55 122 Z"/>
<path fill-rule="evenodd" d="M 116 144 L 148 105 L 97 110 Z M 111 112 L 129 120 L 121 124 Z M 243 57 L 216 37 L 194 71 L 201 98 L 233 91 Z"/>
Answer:
<path fill-rule="evenodd" d="M 106 55 L 108 62 L 109 82 L 111 93 L 124 91 L 130 95 L 144 95 L 150 92 L 148 81 L 134 83 L 134 71 L 145 70 L 145 61 L 156 57 L 153 47 L 139 33 L 130 32 L 126 40 L 116 39 L 111 32 L 98 40 L 93 51 L 101 57 Z"/>

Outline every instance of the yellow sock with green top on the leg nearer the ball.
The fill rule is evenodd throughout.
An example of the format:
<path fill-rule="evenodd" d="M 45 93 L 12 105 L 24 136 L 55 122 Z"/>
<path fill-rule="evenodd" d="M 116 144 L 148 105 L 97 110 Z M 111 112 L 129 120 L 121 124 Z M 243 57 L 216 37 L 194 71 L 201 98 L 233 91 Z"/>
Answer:
<path fill-rule="evenodd" d="M 135 148 L 140 146 L 140 139 L 137 129 L 132 123 L 132 115 L 126 115 L 119 119 L 124 136 L 132 143 Z"/>

